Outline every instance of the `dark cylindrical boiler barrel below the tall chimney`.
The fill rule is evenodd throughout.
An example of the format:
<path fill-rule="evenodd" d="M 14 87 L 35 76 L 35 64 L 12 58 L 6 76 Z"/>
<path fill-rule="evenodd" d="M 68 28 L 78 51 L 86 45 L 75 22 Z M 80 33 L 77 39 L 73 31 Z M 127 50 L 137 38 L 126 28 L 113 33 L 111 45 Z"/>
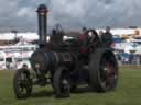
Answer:
<path fill-rule="evenodd" d="M 72 66 L 73 55 L 70 52 L 46 52 L 44 50 L 36 50 L 31 57 L 31 63 L 33 69 L 37 67 L 37 69 L 47 72 L 50 69 L 59 65 Z"/>

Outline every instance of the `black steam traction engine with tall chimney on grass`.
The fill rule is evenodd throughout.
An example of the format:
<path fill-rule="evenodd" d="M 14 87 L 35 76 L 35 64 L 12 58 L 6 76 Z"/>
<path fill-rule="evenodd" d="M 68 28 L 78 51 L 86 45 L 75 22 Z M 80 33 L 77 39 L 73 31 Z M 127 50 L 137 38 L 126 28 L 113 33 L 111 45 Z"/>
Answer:
<path fill-rule="evenodd" d="M 39 49 L 30 58 L 32 70 L 23 65 L 17 70 L 13 89 L 18 98 L 28 97 L 33 85 L 51 84 L 57 97 L 69 96 L 77 85 L 87 83 L 96 92 L 113 90 L 118 82 L 118 65 L 110 48 L 105 48 L 95 30 L 84 36 L 63 39 L 57 25 L 46 42 L 47 8 L 41 4 L 39 15 Z"/>

